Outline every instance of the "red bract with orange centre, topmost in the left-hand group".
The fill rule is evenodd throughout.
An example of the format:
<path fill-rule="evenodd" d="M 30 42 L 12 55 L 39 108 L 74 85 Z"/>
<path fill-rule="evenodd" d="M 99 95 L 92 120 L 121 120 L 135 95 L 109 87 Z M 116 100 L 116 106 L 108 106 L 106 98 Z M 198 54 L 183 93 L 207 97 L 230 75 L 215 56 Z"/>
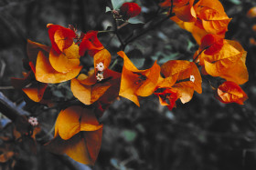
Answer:
<path fill-rule="evenodd" d="M 60 25 L 48 24 L 48 36 L 51 41 L 52 48 L 56 53 L 60 54 L 69 46 L 73 45 L 76 33 Z"/>

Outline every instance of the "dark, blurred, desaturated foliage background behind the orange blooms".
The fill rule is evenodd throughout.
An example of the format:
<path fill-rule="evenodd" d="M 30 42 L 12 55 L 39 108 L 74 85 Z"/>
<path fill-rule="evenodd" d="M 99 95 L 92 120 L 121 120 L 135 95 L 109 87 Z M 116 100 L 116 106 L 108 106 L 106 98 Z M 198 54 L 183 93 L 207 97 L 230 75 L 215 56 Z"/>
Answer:
<path fill-rule="evenodd" d="M 136 0 L 142 6 L 141 21 L 157 22 L 165 15 L 155 15 L 160 0 Z M 226 39 L 237 40 L 248 52 L 246 65 L 250 80 L 242 88 L 249 96 L 245 105 L 223 105 L 214 98 L 207 82 L 203 94 L 169 111 L 159 105 L 156 96 L 142 98 L 141 107 L 121 98 L 101 117 L 104 125 L 101 152 L 95 170 L 255 170 L 256 169 L 256 18 L 247 16 L 255 0 L 220 0 L 229 17 Z M 110 0 L 0 0 L 0 91 L 13 103 L 36 116 L 42 128 L 50 131 L 61 108 L 44 105 L 25 106 L 24 94 L 12 89 L 10 78 L 22 77 L 25 71 L 27 38 L 50 45 L 46 25 L 74 25 L 86 33 L 89 30 L 112 29 L 112 14 L 105 13 Z M 143 24 L 127 25 L 121 30 L 125 39 Z M 129 34 L 129 35 L 128 35 Z M 117 57 L 120 43 L 111 34 L 98 35 L 101 43 Z M 187 31 L 171 20 L 127 45 L 125 52 L 135 65 L 149 67 L 170 59 L 191 59 L 198 46 Z M 129 55 L 130 53 L 130 55 Z M 82 64 L 91 67 L 89 56 Z M 122 63 L 122 62 L 121 62 Z M 69 83 L 68 85 L 69 86 Z M 65 85 L 53 85 L 53 97 L 69 98 Z M 68 91 L 68 92 L 67 92 Z M 0 135 L 9 122 L 1 115 Z M 0 154 L 6 146 L 0 138 Z M 11 146 L 10 146 L 11 147 Z M 37 144 L 37 154 L 27 145 L 13 145 L 16 155 L 0 156 L 0 169 L 71 169 L 56 155 Z"/>

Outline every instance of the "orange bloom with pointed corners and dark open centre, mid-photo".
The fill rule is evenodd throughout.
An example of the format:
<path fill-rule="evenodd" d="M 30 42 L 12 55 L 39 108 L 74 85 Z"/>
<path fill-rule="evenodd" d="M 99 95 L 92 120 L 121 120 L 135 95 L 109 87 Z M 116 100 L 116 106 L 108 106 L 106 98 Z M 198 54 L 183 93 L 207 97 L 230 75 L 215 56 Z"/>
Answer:
<path fill-rule="evenodd" d="M 123 51 L 117 53 L 123 57 L 123 71 L 119 95 L 140 106 L 139 96 L 152 95 L 160 77 L 160 66 L 155 64 L 146 70 L 138 70 Z"/>

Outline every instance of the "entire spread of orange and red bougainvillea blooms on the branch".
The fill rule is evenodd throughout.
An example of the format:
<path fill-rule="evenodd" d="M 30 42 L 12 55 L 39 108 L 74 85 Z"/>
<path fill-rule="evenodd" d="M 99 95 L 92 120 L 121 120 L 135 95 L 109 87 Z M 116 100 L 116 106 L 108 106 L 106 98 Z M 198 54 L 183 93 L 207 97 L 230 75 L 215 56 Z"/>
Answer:
<path fill-rule="evenodd" d="M 122 71 L 112 70 L 112 55 L 101 44 L 98 32 L 78 35 L 72 26 L 47 25 L 51 46 L 27 41 L 30 71 L 25 78 L 13 78 L 13 84 L 33 101 L 46 103 L 48 84 L 70 80 L 71 92 L 83 104 L 69 105 L 59 113 L 54 139 L 46 145 L 50 152 L 93 165 L 101 148 L 98 118 L 119 96 L 140 106 L 140 96 L 155 94 L 160 104 L 171 110 L 178 99 L 185 104 L 195 91 L 202 93 L 202 74 L 227 80 L 216 89 L 220 102 L 241 105 L 247 99 L 240 88 L 248 81 L 246 52 L 238 42 L 224 39 L 230 18 L 219 0 L 165 0 L 160 5 L 175 13 L 172 20 L 197 40 L 199 49 L 193 62 L 170 60 L 158 65 L 155 61 L 150 68 L 140 70 L 120 51 L 117 55 L 123 58 Z M 129 3 L 120 9 L 125 19 L 140 12 L 138 5 Z M 86 53 L 92 56 L 94 68 L 84 73 L 80 57 Z"/>

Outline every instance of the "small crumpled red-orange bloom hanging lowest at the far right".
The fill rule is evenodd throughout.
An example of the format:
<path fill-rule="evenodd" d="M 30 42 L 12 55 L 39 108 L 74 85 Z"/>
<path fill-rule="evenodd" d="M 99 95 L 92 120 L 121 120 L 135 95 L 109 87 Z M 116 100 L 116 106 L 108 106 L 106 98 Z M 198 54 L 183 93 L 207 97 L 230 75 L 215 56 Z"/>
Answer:
<path fill-rule="evenodd" d="M 248 99 L 240 85 L 230 81 L 219 85 L 216 97 L 224 104 L 237 103 L 243 105 L 243 102 Z"/>

